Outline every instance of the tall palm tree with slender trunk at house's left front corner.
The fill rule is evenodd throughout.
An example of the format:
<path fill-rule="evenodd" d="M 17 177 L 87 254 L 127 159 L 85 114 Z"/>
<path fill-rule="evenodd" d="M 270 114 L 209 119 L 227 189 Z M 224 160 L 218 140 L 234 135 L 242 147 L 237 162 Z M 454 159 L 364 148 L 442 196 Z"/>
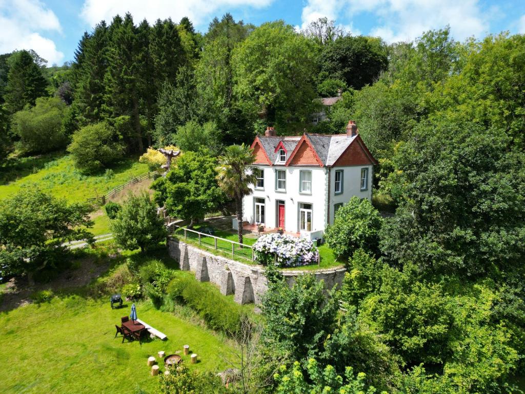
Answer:
<path fill-rule="evenodd" d="M 235 200 L 239 243 L 243 243 L 243 197 L 251 193 L 249 184 L 255 182 L 255 174 L 249 170 L 254 161 L 253 150 L 243 143 L 227 147 L 217 167 L 220 188 Z"/>

